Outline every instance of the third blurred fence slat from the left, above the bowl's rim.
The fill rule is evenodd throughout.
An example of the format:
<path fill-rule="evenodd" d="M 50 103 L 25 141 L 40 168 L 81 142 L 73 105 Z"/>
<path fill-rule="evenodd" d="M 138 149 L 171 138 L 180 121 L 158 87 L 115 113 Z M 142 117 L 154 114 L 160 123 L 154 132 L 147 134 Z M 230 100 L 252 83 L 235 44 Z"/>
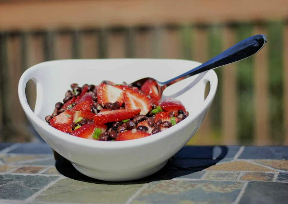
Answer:
<path fill-rule="evenodd" d="M 55 36 L 55 59 L 72 59 L 73 38 L 71 33 L 57 33 Z"/>

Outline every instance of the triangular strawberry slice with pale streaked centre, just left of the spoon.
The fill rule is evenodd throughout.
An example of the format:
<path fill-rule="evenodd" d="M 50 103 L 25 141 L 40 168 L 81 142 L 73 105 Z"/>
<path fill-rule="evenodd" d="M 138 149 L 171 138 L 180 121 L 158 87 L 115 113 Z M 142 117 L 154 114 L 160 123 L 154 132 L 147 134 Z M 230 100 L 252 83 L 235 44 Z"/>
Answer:
<path fill-rule="evenodd" d="M 146 115 L 151 110 L 152 99 L 143 93 L 132 89 L 125 89 L 124 104 L 126 109 L 141 108 L 140 114 Z"/>

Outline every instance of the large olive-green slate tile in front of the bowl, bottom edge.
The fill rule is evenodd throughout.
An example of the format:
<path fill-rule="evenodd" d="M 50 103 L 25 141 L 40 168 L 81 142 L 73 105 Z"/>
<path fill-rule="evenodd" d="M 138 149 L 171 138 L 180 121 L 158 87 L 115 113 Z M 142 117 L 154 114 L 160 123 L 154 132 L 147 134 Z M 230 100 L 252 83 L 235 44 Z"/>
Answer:
<path fill-rule="evenodd" d="M 43 191 L 36 201 L 125 203 L 143 184 L 102 184 L 64 178 Z"/>

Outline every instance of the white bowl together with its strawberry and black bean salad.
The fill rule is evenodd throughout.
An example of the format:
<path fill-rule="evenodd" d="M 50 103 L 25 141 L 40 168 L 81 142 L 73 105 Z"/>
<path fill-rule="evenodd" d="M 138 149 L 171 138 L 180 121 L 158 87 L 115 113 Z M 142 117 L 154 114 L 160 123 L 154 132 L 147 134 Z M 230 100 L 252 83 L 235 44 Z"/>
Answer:
<path fill-rule="evenodd" d="M 213 70 L 189 77 L 167 87 L 161 99 L 149 84 L 114 83 L 144 77 L 166 81 L 199 64 L 175 59 L 42 62 L 23 73 L 18 94 L 42 139 L 79 172 L 129 181 L 157 172 L 192 138 L 213 101 L 218 79 Z M 36 84 L 33 111 L 26 98 L 29 80 Z"/>

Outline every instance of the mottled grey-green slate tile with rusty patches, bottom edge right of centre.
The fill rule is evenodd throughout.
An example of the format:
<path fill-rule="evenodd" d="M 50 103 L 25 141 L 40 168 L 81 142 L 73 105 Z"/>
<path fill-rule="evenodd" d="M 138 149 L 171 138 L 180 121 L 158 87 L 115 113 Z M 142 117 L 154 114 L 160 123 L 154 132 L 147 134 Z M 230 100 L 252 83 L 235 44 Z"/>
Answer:
<path fill-rule="evenodd" d="M 242 186 L 233 181 L 155 181 L 132 203 L 231 203 Z"/>

